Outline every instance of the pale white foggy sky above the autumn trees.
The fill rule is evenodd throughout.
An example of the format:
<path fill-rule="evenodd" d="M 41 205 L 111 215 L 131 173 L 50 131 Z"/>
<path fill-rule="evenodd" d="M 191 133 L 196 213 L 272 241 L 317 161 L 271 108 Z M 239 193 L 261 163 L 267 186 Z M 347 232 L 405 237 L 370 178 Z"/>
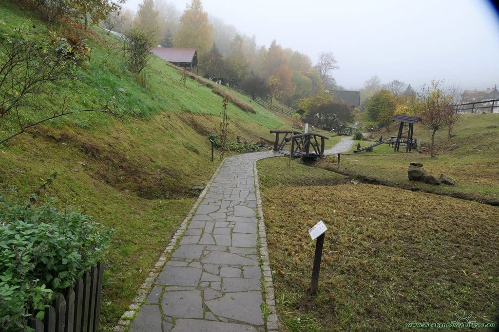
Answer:
<path fill-rule="evenodd" d="M 129 0 L 136 10 L 142 0 Z M 169 0 L 180 12 L 190 0 Z M 499 86 L 499 19 L 486 0 L 202 0 L 208 13 L 273 39 L 312 61 L 333 52 L 346 89 L 378 75 L 414 88 L 447 79 L 464 89 Z"/>

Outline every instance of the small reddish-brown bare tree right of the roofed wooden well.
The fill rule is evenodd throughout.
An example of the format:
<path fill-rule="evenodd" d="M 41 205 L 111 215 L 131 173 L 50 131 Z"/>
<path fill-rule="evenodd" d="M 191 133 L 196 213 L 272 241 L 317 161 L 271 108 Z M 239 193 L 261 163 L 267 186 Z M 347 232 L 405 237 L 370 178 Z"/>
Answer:
<path fill-rule="evenodd" d="M 453 91 L 444 87 L 442 81 L 433 80 L 430 85 L 423 85 L 421 93 L 418 93 L 418 99 L 421 123 L 430 130 L 430 152 L 431 157 L 435 158 L 435 134 L 448 125 Z"/>

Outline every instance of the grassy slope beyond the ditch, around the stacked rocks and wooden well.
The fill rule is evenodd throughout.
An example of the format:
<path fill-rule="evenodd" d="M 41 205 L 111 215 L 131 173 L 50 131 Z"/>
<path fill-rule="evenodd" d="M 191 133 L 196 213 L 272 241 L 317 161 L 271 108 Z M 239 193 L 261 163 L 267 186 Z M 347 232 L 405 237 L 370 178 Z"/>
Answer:
<path fill-rule="evenodd" d="M 431 158 L 429 152 L 413 153 L 396 152 L 390 156 L 345 156 L 337 165 L 333 157 L 321 160 L 317 166 L 351 176 L 370 183 L 381 183 L 389 186 L 421 190 L 426 192 L 450 195 L 459 198 L 473 199 L 490 204 L 499 204 L 499 114 L 466 114 L 456 124 L 453 137 L 447 137 L 447 130 L 439 131 L 436 136 L 437 156 Z M 374 133 L 387 137 L 396 135 L 398 126 L 392 131 L 381 130 Z M 428 142 L 428 130 L 421 124 L 414 127 L 414 137 Z M 361 142 L 366 146 L 367 142 Z M 404 151 L 405 151 L 405 147 Z M 374 148 L 383 151 L 384 148 Z M 402 147 L 401 147 L 402 150 Z M 386 152 L 386 151 L 385 151 Z M 371 153 L 369 153 L 371 154 Z M 454 180 L 457 186 L 435 186 L 422 182 L 410 182 L 407 169 L 410 162 L 423 163 L 429 174 L 439 177 L 445 173 Z"/>

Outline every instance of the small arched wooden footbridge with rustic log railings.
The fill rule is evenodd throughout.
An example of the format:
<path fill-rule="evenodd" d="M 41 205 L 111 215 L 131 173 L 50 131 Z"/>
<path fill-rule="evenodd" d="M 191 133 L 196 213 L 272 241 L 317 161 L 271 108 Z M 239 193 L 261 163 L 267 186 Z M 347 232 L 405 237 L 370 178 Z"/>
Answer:
<path fill-rule="evenodd" d="M 270 133 L 275 134 L 274 151 L 287 156 L 290 155 L 291 158 L 301 157 L 304 160 L 317 161 L 323 157 L 325 140 L 329 139 L 329 137 L 316 132 L 302 133 L 295 130 L 270 130 Z M 284 134 L 282 139 L 280 139 L 280 134 Z M 320 143 L 317 137 L 320 138 Z M 291 142 L 290 150 L 283 150 L 286 143 L 289 142 Z"/>

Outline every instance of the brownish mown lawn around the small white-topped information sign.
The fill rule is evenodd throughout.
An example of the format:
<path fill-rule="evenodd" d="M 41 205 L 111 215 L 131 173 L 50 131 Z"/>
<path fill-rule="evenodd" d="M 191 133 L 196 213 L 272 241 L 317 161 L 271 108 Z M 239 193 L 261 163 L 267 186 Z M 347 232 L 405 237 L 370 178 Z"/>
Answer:
<path fill-rule="evenodd" d="M 317 185 L 323 170 L 295 161 L 286 172 L 282 159 L 257 166 L 283 331 L 401 331 L 462 311 L 497 322 L 497 207 L 341 177 Z M 297 186 L 302 173 L 306 187 Z M 307 230 L 319 220 L 329 229 L 319 293 L 310 296 Z"/>

